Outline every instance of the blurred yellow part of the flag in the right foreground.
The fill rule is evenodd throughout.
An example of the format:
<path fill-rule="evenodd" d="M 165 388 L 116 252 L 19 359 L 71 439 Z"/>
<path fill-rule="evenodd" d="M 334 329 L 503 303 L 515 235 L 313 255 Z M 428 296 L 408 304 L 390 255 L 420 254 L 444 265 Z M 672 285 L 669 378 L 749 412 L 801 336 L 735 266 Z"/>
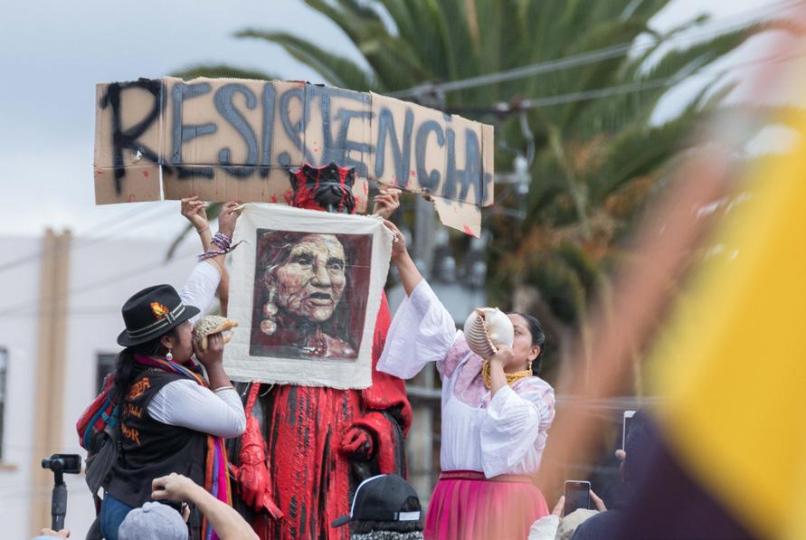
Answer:
<path fill-rule="evenodd" d="M 806 538 L 806 124 L 679 299 L 653 351 L 669 443 L 757 535 Z M 681 516 L 685 519 L 685 516 Z"/>

